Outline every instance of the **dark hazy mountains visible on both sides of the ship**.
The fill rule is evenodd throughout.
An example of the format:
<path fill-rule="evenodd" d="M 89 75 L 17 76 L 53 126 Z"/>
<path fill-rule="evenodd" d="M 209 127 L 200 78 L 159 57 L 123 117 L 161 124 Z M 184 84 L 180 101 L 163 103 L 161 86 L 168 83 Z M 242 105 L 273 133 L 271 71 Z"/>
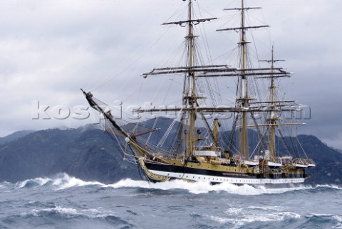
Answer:
<path fill-rule="evenodd" d="M 167 131 L 166 124 L 158 125 L 162 127 L 161 135 Z M 342 154 L 314 136 L 299 135 L 298 139 L 309 158 L 316 162 L 316 168 L 308 170 L 306 183 L 341 185 Z M 121 144 L 125 149 L 125 143 Z M 118 146 L 115 137 L 90 126 L 31 132 L 1 143 L 0 181 L 16 182 L 63 172 L 103 183 L 140 179 L 137 166 L 123 160 Z"/>

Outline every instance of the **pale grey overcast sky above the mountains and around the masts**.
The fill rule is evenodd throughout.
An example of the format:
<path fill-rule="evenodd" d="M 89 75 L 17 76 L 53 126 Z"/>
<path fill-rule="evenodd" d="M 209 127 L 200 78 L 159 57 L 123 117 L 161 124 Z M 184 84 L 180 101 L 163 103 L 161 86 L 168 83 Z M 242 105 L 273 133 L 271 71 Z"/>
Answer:
<path fill-rule="evenodd" d="M 342 149 L 342 1 L 248 2 L 263 7 L 252 18 L 271 26 L 270 38 L 261 45 L 274 42 L 276 58 L 286 59 L 282 66 L 295 73 L 289 95 L 311 107 L 311 119 L 299 133 Z M 227 26 L 231 16 L 222 9 L 236 6 L 234 1 L 199 4 L 202 16 L 219 17 L 206 29 L 214 34 L 209 41 L 219 41 L 212 45 L 212 56 L 219 56 L 215 50 L 236 48 L 229 34 L 214 32 Z M 87 105 L 80 87 L 108 102 L 134 101 L 127 85 L 138 90 L 140 74 L 163 63 L 170 47 L 182 45 L 182 28 L 160 24 L 183 19 L 178 14 L 184 6 L 181 0 L 0 0 L 0 136 L 96 122 L 94 115 L 83 121 L 72 117 L 76 106 Z M 37 119 L 37 102 L 49 106 L 51 119 L 43 119 L 44 114 Z M 71 117 L 53 117 L 58 106 L 70 109 Z"/>

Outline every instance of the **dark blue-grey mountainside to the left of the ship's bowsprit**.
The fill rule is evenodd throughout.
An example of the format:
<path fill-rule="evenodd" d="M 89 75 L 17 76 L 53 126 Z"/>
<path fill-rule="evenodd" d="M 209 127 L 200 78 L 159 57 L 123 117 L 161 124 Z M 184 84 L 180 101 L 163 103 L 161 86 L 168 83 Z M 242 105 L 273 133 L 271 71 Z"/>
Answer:
<path fill-rule="evenodd" d="M 16 182 L 62 172 L 103 183 L 123 177 L 138 179 L 135 164 L 123 161 L 115 144 L 100 129 L 33 132 L 0 146 L 0 181 Z"/>

